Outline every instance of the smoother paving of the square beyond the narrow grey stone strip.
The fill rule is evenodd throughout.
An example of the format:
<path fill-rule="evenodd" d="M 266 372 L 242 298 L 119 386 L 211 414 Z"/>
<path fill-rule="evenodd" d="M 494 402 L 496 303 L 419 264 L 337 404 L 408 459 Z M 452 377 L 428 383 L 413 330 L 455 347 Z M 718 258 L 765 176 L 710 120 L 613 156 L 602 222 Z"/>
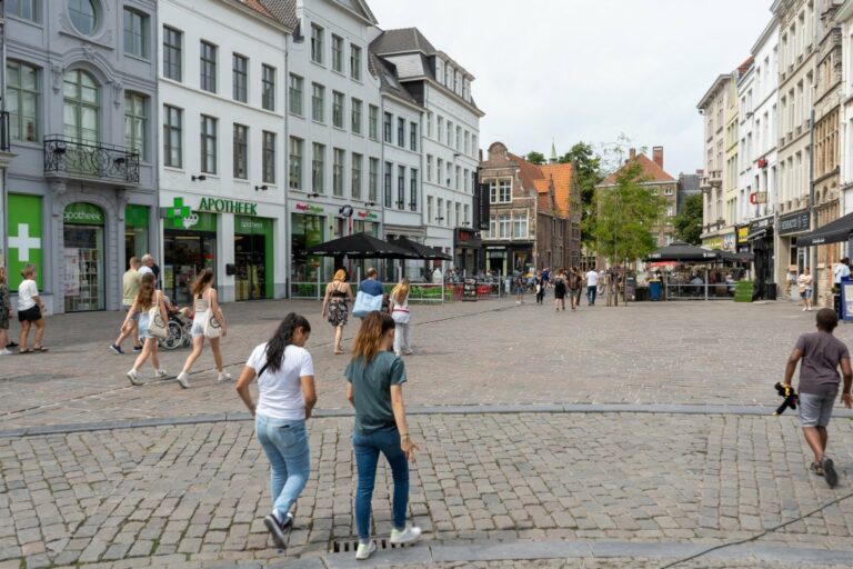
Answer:
<path fill-rule="evenodd" d="M 309 316 L 320 408 L 345 408 L 345 357 L 331 355 L 331 328 L 313 301 L 239 303 L 223 342 L 238 375 L 257 343 L 295 310 Z M 132 356 L 108 349 L 121 315 L 52 317 L 44 355 L 0 358 L 0 429 L 106 419 L 240 412 L 232 386 L 217 383 L 205 352 L 182 391 L 173 380 L 131 388 Z M 353 319 L 354 320 L 354 319 Z M 413 308 L 415 356 L 407 358 L 408 402 L 449 403 L 723 403 L 775 406 L 772 385 L 814 312 L 787 302 L 640 303 L 550 307 L 494 300 Z M 355 322 L 347 328 L 348 338 Z M 14 330 L 13 330 L 14 331 Z M 853 327 L 837 332 L 853 341 Z M 177 373 L 185 349 L 163 352 Z M 150 366 L 143 375 L 151 373 Z"/>

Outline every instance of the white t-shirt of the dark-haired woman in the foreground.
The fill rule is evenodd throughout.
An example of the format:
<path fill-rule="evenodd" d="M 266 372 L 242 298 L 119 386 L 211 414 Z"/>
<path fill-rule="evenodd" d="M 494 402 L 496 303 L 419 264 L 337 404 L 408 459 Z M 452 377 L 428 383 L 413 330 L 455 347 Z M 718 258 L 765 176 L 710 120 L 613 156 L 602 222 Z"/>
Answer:
<path fill-rule="evenodd" d="M 258 346 L 249 356 L 247 366 L 255 373 L 267 363 L 267 342 Z M 305 398 L 302 397 L 300 378 L 314 375 L 314 362 L 308 350 L 299 346 L 284 348 L 281 369 L 269 369 L 258 378 L 258 406 L 254 412 L 273 419 L 300 421 L 305 418 Z"/>

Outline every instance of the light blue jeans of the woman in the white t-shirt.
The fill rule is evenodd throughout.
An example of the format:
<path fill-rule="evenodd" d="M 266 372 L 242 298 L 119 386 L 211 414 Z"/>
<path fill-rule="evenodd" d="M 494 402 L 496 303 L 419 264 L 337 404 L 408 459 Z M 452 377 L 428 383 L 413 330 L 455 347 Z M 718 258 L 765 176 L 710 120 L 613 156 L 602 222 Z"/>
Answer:
<path fill-rule="evenodd" d="M 254 417 L 254 430 L 270 460 L 272 510 L 283 520 L 311 473 L 305 421 L 258 415 Z"/>

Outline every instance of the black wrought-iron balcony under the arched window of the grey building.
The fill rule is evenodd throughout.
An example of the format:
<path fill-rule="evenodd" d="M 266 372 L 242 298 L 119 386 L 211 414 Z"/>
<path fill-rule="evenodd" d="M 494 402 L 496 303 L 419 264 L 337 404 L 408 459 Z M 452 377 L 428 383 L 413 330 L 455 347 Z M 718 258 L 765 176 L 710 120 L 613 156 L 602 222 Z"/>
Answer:
<path fill-rule="evenodd" d="M 52 134 L 44 137 L 44 176 L 136 186 L 139 183 L 139 152 Z"/>

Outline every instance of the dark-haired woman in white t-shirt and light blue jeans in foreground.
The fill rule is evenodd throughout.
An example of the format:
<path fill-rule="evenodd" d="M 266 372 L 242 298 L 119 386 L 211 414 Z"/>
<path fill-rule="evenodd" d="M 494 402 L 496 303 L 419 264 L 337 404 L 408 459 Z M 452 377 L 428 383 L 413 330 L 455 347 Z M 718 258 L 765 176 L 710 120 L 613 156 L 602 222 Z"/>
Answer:
<path fill-rule="evenodd" d="M 270 460 L 272 513 L 263 523 L 280 549 L 293 523 L 290 508 L 311 473 L 305 420 L 317 403 L 314 363 L 304 349 L 311 325 L 297 313 L 284 317 L 267 343 L 258 346 L 237 382 L 237 392 L 254 416 L 254 431 Z M 258 378 L 258 403 L 249 386 Z"/>

